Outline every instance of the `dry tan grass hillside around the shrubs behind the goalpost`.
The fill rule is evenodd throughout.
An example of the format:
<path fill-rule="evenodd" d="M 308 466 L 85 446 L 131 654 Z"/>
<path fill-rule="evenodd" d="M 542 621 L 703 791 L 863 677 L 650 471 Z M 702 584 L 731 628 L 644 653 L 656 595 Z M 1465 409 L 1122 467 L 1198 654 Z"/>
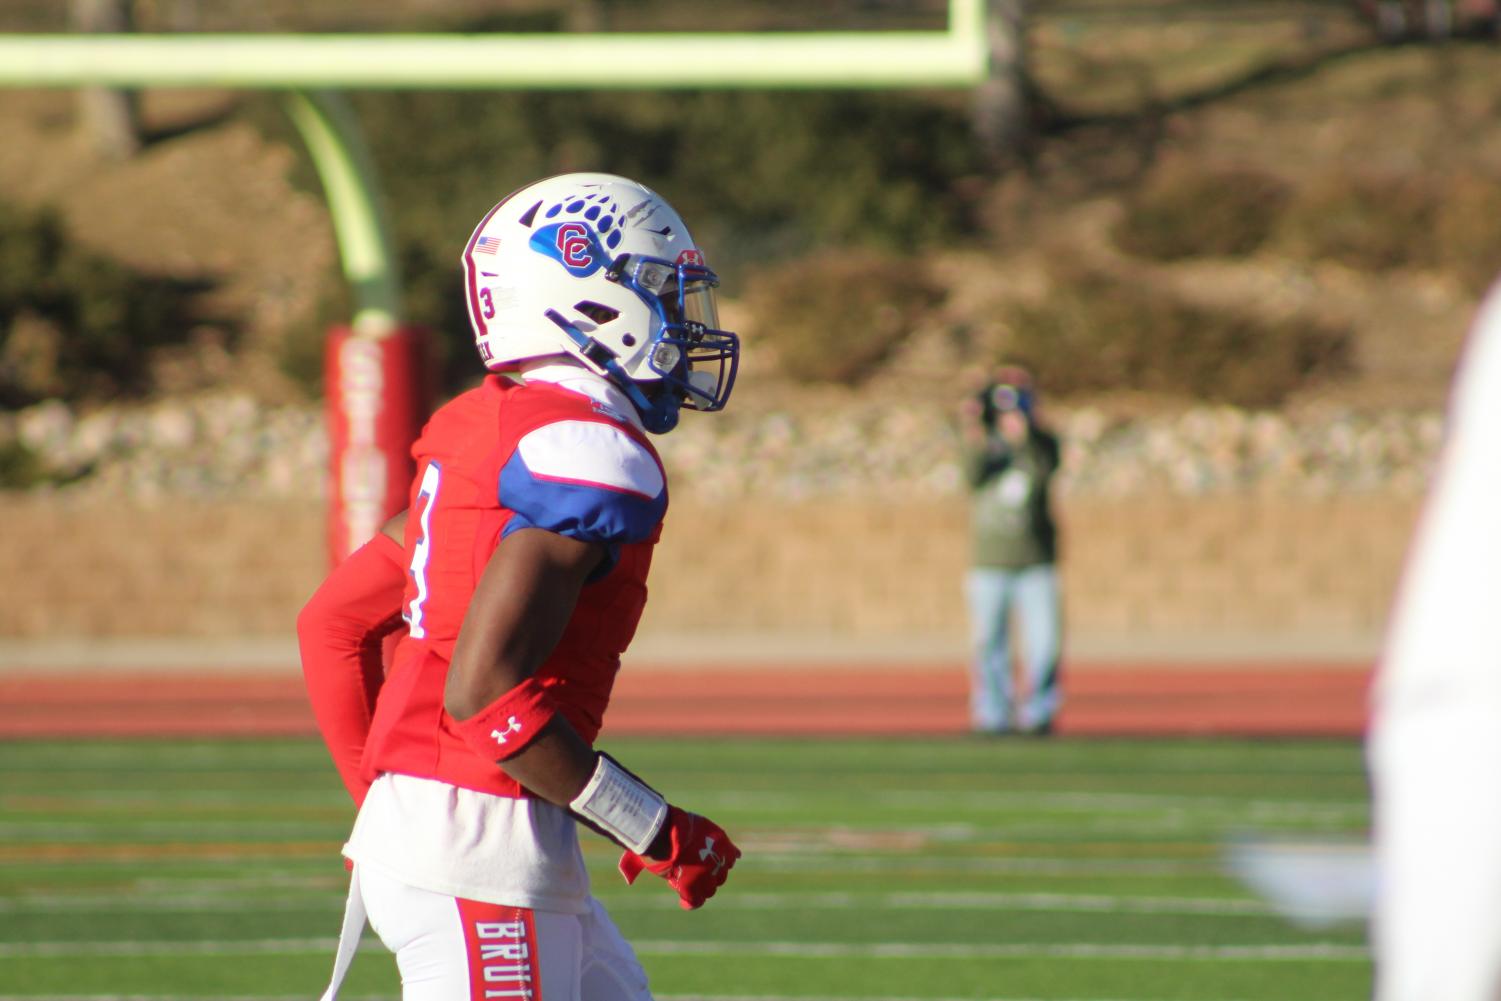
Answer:
<path fill-rule="evenodd" d="M 1007 350 L 1016 305 L 1046 303 L 1057 263 L 1069 261 L 1208 309 L 1348 330 L 1348 363 L 1291 396 L 1292 410 L 1441 405 L 1478 293 L 1459 270 L 1363 269 L 1310 260 L 1286 242 L 1166 263 L 1121 249 L 1132 200 L 1195 173 L 1255 170 L 1310 201 L 1363 177 L 1501 189 L 1495 47 L 1378 47 L 1333 5 L 1268 9 L 1282 14 L 1165 23 L 1078 8 L 1040 18 L 1033 62 L 1049 101 L 1042 138 L 1024 164 L 973 180 L 983 224 L 973 242 L 923 251 L 944 293 L 940 305 L 872 378 L 853 389 L 808 387 L 782 378 L 758 318 L 726 290 L 747 335 L 737 404 L 944 398 L 968 360 Z M 161 353 L 161 393 L 236 384 L 294 399 L 303 389 L 285 374 L 290 344 L 332 315 L 336 254 L 318 195 L 293 180 L 302 152 L 264 138 L 236 114 L 237 101 L 147 93 L 147 147 L 105 162 L 78 135 L 71 93 L 3 92 L 0 192 L 59 210 L 90 249 L 213 285 L 200 302 L 201 323 Z M 1091 402 L 1163 402 L 1133 390 L 1118 386 Z"/>

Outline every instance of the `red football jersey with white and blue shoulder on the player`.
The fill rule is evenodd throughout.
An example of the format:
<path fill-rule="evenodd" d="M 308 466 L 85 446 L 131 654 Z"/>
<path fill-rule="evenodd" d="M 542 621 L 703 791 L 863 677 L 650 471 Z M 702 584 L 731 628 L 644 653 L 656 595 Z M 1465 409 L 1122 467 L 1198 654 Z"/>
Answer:
<path fill-rule="evenodd" d="M 413 446 L 402 615 L 408 635 L 381 687 L 363 771 L 398 771 L 482 792 L 521 786 L 464 743 L 443 686 L 470 597 L 500 540 L 543 528 L 597 542 L 609 558 L 579 593 L 537 671 L 588 741 L 599 734 L 620 654 L 645 605 L 666 476 L 651 443 L 609 407 L 549 383 L 500 377 L 434 414 Z"/>

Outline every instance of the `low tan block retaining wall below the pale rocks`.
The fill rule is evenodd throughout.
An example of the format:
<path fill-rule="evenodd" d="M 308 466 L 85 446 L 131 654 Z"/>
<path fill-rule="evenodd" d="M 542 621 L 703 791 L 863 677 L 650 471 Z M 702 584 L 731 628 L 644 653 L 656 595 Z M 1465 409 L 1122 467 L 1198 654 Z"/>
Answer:
<path fill-rule="evenodd" d="M 1070 635 L 1379 635 L 1418 501 L 1247 495 L 1060 506 Z M 674 498 L 642 636 L 962 642 L 961 500 Z M 0 495 L 0 638 L 288 636 L 323 573 L 302 501 Z"/>

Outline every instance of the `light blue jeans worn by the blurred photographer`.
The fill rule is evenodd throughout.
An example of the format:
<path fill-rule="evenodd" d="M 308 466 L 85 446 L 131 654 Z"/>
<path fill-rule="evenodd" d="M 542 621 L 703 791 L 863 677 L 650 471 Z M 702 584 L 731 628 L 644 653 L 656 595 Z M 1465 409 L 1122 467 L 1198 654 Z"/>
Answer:
<path fill-rule="evenodd" d="M 977 731 L 1045 728 L 1063 701 L 1058 659 L 1063 609 L 1058 569 L 1043 563 L 1022 570 L 974 567 L 965 579 L 970 602 L 970 722 Z M 1018 702 L 1012 681 L 1012 617 L 1021 627 L 1025 689 Z"/>

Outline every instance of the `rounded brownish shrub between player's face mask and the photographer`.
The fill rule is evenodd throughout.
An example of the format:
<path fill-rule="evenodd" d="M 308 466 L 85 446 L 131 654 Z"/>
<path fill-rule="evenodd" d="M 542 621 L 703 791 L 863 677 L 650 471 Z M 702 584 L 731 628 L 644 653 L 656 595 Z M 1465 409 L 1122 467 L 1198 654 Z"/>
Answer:
<path fill-rule="evenodd" d="M 757 272 L 750 338 L 800 383 L 853 386 L 869 377 L 943 299 L 923 267 L 874 252 L 826 254 Z"/>

